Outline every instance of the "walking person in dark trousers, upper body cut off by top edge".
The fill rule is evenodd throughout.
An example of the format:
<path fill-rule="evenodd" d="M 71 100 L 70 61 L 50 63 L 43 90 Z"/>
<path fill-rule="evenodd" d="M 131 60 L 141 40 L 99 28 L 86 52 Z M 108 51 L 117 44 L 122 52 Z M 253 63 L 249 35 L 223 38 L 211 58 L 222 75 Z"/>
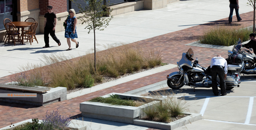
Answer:
<path fill-rule="evenodd" d="M 230 8 L 230 13 L 229 13 L 229 24 L 232 22 L 232 17 L 233 17 L 233 11 L 235 9 L 235 14 L 237 16 L 237 22 L 241 21 L 241 17 L 239 16 L 238 10 L 239 10 L 239 2 L 238 0 L 229 0 L 229 8 Z"/>

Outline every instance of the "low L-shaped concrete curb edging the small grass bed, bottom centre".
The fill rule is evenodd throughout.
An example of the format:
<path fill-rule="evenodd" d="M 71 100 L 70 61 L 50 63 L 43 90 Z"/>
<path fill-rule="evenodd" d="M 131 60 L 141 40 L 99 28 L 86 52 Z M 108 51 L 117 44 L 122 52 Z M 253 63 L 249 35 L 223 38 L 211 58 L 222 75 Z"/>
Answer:
<path fill-rule="evenodd" d="M 145 121 L 145 120 L 136 119 L 136 120 L 133 120 L 133 124 L 139 125 L 139 126 L 158 128 L 161 130 L 173 130 L 185 124 L 192 123 L 194 121 L 202 119 L 201 114 L 189 113 L 189 112 L 185 112 L 185 114 L 188 114 L 189 116 L 173 121 L 171 123 L 159 123 L 154 121 Z"/>

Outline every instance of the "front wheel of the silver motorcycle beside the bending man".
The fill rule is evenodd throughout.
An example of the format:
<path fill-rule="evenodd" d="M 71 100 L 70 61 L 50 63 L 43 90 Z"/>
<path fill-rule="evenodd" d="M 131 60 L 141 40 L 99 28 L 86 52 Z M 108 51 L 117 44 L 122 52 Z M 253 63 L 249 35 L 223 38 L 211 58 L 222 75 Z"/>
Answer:
<path fill-rule="evenodd" d="M 182 77 L 181 80 L 179 81 L 180 77 L 181 77 L 181 75 L 172 77 L 172 79 L 168 79 L 167 85 L 171 89 L 179 89 L 179 88 L 183 87 L 184 86 L 184 78 Z M 178 81 L 179 81 L 179 83 L 177 83 Z"/>

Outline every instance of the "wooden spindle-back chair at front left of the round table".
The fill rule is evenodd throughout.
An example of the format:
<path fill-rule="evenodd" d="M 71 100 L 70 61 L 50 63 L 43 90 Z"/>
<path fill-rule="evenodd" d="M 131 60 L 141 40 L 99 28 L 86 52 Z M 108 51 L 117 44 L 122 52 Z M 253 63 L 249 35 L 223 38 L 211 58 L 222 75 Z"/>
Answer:
<path fill-rule="evenodd" d="M 5 24 L 4 27 L 6 28 L 8 37 L 12 38 L 12 42 L 14 42 L 14 46 L 15 46 L 15 36 L 18 37 L 17 40 L 21 41 L 20 33 L 17 31 L 17 28 L 14 24 L 8 22 Z M 8 43 L 10 43 L 10 38 L 8 39 Z M 6 39 L 6 41 L 7 41 L 7 39 Z M 4 42 L 4 44 L 6 44 L 6 41 Z"/>

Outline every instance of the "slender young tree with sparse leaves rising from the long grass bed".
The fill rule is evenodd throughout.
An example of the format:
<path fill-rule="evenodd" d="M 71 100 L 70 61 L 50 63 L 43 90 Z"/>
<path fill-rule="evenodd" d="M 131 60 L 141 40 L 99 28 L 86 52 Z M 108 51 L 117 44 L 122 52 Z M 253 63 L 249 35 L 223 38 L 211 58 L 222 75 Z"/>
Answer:
<path fill-rule="evenodd" d="M 113 9 L 107 9 L 109 2 L 106 0 L 83 0 L 85 2 L 85 7 L 77 2 L 77 0 L 71 0 L 79 8 L 79 12 L 83 13 L 83 19 L 81 19 L 82 24 L 87 23 L 88 25 L 85 29 L 88 29 L 90 33 L 93 30 L 94 33 L 94 71 L 96 72 L 96 39 L 95 30 L 104 30 L 113 19 L 111 17 L 105 17 L 110 14 Z M 104 2 L 103 2 L 104 1 Z"/>

